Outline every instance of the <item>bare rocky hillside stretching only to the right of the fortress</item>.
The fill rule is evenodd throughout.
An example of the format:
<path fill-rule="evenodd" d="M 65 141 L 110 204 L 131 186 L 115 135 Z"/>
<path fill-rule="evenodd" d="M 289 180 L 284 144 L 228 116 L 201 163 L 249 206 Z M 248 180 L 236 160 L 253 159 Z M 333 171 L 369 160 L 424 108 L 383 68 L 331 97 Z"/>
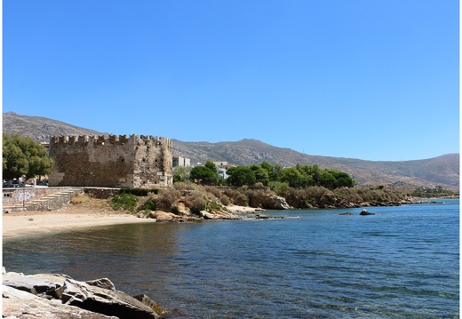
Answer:
<path fill-rule="evenodd" d="M 459 155 L 448 154 L 416 161 L 364 161 L 355 158 L 311 156 L 290 148 L 276 148 L 259 140 L 236 142 L 173 141 L 174 153 L 190 157 L 192 162 L 226 161 L 240 165 L 251 163 L 279 163 L 284 167 L 318 164 L 322 168 L 346 171 L 358 185 L 386 185 L 397 188 L 434 187 L 458 189 Z"/>

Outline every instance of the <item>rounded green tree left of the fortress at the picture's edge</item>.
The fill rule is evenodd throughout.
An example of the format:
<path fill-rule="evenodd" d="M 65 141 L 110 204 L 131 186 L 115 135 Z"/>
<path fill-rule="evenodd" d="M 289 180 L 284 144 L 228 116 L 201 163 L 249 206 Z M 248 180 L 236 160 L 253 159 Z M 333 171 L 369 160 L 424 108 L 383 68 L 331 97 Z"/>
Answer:
<path fill-rule="evenodd" d="M 21 176 L 30 179 L 52 171 L 52 159 L 46 156 L 46 148 L 34 139 L 3 134 L 2 151 L 4 179 Z"/>

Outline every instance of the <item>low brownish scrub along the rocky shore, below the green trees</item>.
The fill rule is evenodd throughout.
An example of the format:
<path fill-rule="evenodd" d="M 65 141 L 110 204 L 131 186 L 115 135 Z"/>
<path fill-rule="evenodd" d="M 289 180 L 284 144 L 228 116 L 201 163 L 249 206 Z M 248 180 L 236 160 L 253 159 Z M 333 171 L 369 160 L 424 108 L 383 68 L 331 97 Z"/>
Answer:
<path fill-rule="evenodd" d="M 112 199 L 115 210 L 165 211 L 176 215 L 200 215 L 201 211 L 227 211 L 227 206 L 250 206 L 262 209 L 277 208 L 275 199 L 295 209 L 353 208 L 367 206 L 398 205 L 412 203 L 409 195 L 386 188 L 322 186 L 304 188 L 289 187 L 285 183 L 265 186 L 258 182 L 253 187 L 229 187 L 177 182 L 172 188 L 160 189 L 147 195 L 121 194 Z M 137 197 L 138 200 L 135 200 Z"/>

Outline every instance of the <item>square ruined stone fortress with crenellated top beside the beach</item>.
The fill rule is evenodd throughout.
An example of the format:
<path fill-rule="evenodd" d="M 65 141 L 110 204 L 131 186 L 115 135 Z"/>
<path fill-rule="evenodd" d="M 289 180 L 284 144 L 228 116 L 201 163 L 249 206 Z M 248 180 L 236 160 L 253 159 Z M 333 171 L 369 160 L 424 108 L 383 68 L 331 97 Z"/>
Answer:
<path fill-rule="evenodd" d="M 170 139 L 144 135 L 53 136 L 50 187 L 171 187 Z"/>

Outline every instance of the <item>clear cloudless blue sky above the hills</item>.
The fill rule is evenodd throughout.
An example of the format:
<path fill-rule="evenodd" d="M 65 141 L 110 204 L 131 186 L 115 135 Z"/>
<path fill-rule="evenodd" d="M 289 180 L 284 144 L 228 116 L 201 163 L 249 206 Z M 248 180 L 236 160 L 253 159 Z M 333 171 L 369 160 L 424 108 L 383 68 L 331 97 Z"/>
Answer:
<path fill-rule="evenodd" d="M 3 5 L 4 112 L 317 156 L 459 151 L 457 0 Z"/>

